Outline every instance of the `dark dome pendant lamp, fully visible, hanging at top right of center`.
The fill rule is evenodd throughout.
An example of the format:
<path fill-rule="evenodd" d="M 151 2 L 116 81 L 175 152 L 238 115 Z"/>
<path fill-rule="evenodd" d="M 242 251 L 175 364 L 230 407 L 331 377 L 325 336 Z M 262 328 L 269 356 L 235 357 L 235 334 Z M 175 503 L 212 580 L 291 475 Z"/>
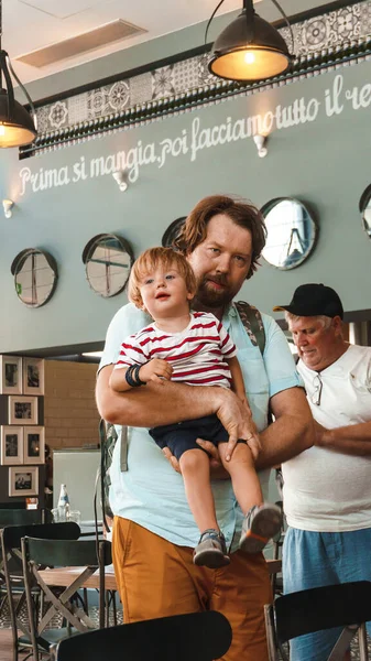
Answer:
<path fill-rule="evenodd" d="M 207 24 L 205 43 L 208 28 L 222 2 L 219 2 Z M 294 43 L 286 14 L 276 0 L 272 2 L 285 19 Z M 252 83 L 285 73 L 293 59 L 294 55 L 288 52 L 280 32 L 255 13 L 252 0 L 243 0 L 242 12 L 215 41 L 208 66 L 211 74 L 219 78 Z"/>

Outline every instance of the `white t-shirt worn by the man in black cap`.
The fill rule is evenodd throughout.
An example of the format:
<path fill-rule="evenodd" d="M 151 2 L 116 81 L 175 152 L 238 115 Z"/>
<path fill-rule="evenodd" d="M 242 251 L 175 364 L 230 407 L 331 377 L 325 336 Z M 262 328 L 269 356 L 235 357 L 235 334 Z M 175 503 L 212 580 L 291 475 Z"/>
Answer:
<path fill-rule="evenodd" d="M 320 372 L 320 403 L 316 405 L 317 372 L 302 360 L 314 419 L 326 429 L 371 421 L 371 347 L 350 345 Z M 284 509 L 292 528 L 315 532 L 346 532 L 371 528 L 371 457 L 310 447 L 282 466 Z"/>

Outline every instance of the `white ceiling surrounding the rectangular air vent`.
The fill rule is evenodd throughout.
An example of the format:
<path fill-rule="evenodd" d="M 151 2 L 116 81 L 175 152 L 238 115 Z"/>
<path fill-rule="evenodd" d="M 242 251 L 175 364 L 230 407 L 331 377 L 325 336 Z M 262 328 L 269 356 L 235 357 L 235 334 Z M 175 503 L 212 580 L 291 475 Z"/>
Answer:
<path fill-rule="evenodd" d="M 261 6 L 268 0 L 255 0 Z M 281 0 L 283 9 L 301 10 L 321 4 L 320 0 Z M 22 83 L 30 83 L 70 67 L 91 62 L 126 47 L 207 21 L 217 0 L 2 0 L 2 47 L 8 51 Z M 290 7 L 288 7 L 290 6 Z M 242 0 L 225 0 L 218 15 L 242 7 Z M 273 6 L 272 6 L 273 7 Z M 292 11 L 291 13 L 296 13 Z M 264 14 L 262 13 L 263 18 Z M 42 68 L 15 62 L 39 48 L 89 32 L 118 19 L 146 32 L 68 57 Z M 280 14 L 274 10 L 274 18 Z M 210 39 L 215 36 L 210 34 Z"/>

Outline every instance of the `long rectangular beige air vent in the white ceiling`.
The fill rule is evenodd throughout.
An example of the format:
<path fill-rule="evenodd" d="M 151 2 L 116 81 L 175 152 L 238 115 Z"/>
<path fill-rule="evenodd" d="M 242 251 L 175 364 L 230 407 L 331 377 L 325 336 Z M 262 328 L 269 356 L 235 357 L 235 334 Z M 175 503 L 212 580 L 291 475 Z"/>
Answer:
<path fill-rule="evenodd" d="M 119 19 L 118 21 L 106 23 L 106 25 L 101 25 L 90 32 L 84 32 L 84 34 L 66 39 L 65 41 L 52 44 L 45 48 L 20 55 L 20 57 L 14 57 L 14 59 L 40 68 L 59 62 L 61 59 L 66 59 L 67 57 L 76 57 L 87 51 L 107 46 L 107 44 L 111 44 L 112 42 L 122 39 L 143 34 L 144 32 L 146 32 L 146 30 L 143 28 L 138 28 L 138 25 L 127 23 L 127 21 Z"/>

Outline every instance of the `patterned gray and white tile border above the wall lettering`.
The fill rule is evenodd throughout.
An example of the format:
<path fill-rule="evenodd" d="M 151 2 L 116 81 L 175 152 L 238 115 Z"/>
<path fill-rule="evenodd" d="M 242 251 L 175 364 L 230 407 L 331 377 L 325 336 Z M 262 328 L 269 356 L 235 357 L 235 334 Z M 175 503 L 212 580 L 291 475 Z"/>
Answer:
<path fill-rule="evenodd" d="M 187 111 L 195 105 L 210 102 L 210 97 L 255 94 L 262 88 L 286 85 L 302 75 L 317 75 L 340 65 L 340 61 L 342 66 L 369 58 L 371 0 L 314 17 L 292 28 L 296 59 L 290 75 L 269 84 L 249 86 L 220 82 L 210 74 L 207 68 L 209 54 L 184 59 L 36 108 L 39 137 L 31 148 L 20 150 L 21 158 L 44 152 L 52 144 L 88 138 L 91 132 L 138 124 L 139 120 L 153 121 L 168 112 Z M 283 28 L 280 32 L 290 45 L 288 29 Z"/>

